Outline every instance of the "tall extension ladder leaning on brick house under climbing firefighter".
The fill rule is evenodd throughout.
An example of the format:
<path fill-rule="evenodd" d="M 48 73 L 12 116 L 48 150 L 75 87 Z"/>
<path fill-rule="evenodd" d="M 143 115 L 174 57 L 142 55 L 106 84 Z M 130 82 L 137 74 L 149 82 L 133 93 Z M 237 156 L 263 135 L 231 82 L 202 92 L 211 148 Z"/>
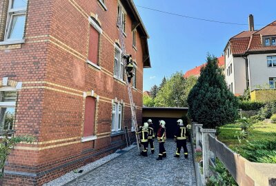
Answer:
<path fill-rule="evenodd" d="M 122 51 L 123 55 L 126 55 L 126 47 L 125 47 L 125 42 L 124 42 L 124 31 L 123 31 L 123 26 L 122 26 L 122 22 L 121 22 L 121 17 L 118 17 L 117 25 L 119 26 L 119 33 L 120 33 L 119 41 L 121 43 L 121 51 Z M 126 67 L 126 59 L 123 58 L 123 60 L 124 60 L 124 67 Z M 133 102 L 133 96 L 132 96 L 132 87 L 131 87 L 130 83 L 128 82 L 126 68 L 125 68 L 124 72 L 125 72 L 125 78 L 126 78 L 126 85 L 128 87 L 128 98 L 130 100 L 132 123 L 135 126 L 135 131 L 137 131 L 138 124 L 137 124 L 137 118 L 136 118 L 136 112 L 135 112 L 135 104 Z M 140 136 L 139 136 L 139 134 L 136 134 L 136 132 L 135 132 L 135 136 L 136 136 L 138 151 L 140 152 L 140 147 L 139 147 Z"/>

